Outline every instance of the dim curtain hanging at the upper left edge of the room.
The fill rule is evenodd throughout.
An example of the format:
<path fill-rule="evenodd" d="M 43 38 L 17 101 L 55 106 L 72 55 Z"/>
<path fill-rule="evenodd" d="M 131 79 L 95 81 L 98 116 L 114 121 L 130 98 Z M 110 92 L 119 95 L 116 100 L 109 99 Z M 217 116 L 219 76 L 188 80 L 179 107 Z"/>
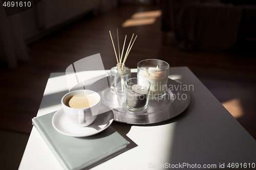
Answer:
<path fill-rule="evenodd" d="M 29 59 L 19 14 L 7 17 L 3 6 L 0 6 L 0 56 L 10 68 L 17 67 L 18 60 Z"/>

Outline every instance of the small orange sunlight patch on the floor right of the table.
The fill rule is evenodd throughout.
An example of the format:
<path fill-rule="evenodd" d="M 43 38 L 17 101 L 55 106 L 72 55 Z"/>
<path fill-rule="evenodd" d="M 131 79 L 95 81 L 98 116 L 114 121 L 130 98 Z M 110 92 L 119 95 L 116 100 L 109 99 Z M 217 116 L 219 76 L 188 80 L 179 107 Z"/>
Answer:
<path fill-rule="evenodd" d="M 229 111 L 234 118 L 239 118 L 244 115 L 243 107 L 240 99 L 232 99 L 223 102 L 222 105 Z"/>

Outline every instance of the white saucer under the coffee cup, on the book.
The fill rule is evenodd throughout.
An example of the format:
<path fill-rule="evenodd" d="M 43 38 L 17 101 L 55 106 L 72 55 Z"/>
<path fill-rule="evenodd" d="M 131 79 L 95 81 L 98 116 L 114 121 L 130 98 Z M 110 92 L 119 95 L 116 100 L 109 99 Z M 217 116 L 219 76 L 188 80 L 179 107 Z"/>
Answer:
<path fill-rule="evenodd" d="M 105 107 L 101 105 L 101 107 Z M 63 135 L 84 137 L 97 134 L 104 129 L 108 128 L 114 119 L 112 110 L 105 113 L 101 113 L 97 116 L 94 122 L 87 127 L 75 126 L 63 111 L 63 108 L 59 109 L 52 118 L 52 125 L 56 131 Z"/>

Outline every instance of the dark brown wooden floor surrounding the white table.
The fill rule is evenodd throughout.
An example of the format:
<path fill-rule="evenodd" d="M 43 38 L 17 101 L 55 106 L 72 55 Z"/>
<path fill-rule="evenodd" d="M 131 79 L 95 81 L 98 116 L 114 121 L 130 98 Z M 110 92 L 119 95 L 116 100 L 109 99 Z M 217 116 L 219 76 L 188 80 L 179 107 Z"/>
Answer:
<path fill-rule="evenodd" d="M 109 35 L 120 42 L 125 34 L 138 38 L 125 65 L 136 68 L 146 58 L 162 59 L 170 66 L 188 66 L 205 86 L 256 139 L 256 55 L 237 45 L 231 52 L 184 52 L 177 49 L 172 33 L 162 42 L 161 20 L 151 25 L 122 28 L 135 12 L 158 10 L 151 6 L 120 6 L 109 13 L 86 18 L 29 45 L 30 60 L 9 69 L 1 63 L 0 129 L 29 134 L 50 72 L 64 72 L 71 63 L 101 54 L 105 69 L 116 65 Z M 249 52 L 248 52 L 249 51 Z"/>

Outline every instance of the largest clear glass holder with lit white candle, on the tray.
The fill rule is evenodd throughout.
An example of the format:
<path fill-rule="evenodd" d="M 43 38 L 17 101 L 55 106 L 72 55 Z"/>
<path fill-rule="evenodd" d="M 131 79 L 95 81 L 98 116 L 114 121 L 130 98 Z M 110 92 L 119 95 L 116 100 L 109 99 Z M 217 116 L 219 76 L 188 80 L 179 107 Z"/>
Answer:
<path fill-rule="evenodd" d="M 151 83 L 150 100 L 164 98 L 167 90 L 169 64 L 158 59 L 146 59 L 137 64 L 138 78 L 143 78 Z"/>

